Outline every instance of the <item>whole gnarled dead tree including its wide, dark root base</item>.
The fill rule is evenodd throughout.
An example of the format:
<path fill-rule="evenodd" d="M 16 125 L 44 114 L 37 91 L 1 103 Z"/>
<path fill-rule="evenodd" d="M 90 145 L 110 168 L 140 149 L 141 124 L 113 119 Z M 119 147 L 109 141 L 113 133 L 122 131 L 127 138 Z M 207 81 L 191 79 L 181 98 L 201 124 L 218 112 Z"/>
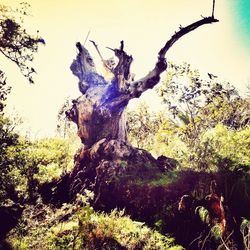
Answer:
<path fill-rule="evenodd" d="M 71 70 L 79 78 L 79 90 L 82 95 L 73 100 L 72 108 L 66 114 L 77 124 L 83 146 L 75 155 L 74 169 L 56 184 L 54 194 L 49 191 L 52 190 L 53 184 L 44 186 L 46 200 L 69 201 L 77 193 L 90 189 L 94 192 L 96 207 L 111 209 L 131 206 L 131 211 L 144 207 L 145 204 L 140 202 L 148 198 L 141 197 L 135 206 L 133 200 L 136 200 L 136 197 L 131 194 L 135 194 L 134 190 L 138 189 L 142 195 L 149 197 L 150 195 L 143 191 L 147 188 L 147 183 L 161 179 L 165 170 L 176 166 L 176 161 L 163 156 L 156 160 L 145 150 L 133 148 L 127 142 L 124 110 L 132 98 L 139 97 L 160 81 L 161 73 L 167 68 L 166 52 L 179 38 L 202 25 L 217 21 L 213 16 L 206 17 L 181 28 L 159 51 L 154 68 L 137 81 L 130 75 L 132 56 L 124 51 L 123 41 L 119 49 L 112 49 L 118 57 L 115 67 L 103 60 L 104 66 L 113 74 L 111 82 L 107 82 L 96 72 L 87 49 L 80 43 L 76 44 L 78 54 Z M 94 45 L 97 48 L 95 43 Z M 160 189 L 163 193 L 166 190 Z M 152 186 L 148 191 L 157 194 L 157 190 Z M 108 197 L 109 194 L 112 197 Z M 150 199 L 152 200 L 147 200 L 148 209 L 141 211 L 147 216 L 149 213 L 153 216 L 154 209 L 162 206 L 155 197 Z M 130 205 L 129 200 L 132 201 Z"/>

